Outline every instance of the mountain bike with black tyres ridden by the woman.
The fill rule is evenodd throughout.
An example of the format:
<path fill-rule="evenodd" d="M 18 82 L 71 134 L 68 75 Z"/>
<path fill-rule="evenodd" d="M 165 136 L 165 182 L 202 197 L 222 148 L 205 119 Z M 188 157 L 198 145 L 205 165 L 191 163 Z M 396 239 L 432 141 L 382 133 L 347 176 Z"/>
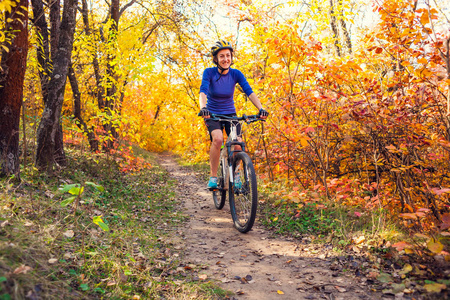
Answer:
<path fill-rule="evenodd" d="M 242 117 L 230 117 L 212 114 L 216 121 L 230 122 L 230 135 L 222 145 L 220 151 L 220 163 L 217 172 L 217 189 L 212 190 L 214 205 L 222 209 L 225 205 L 227 190 L 230 203 L 230 212 L 234 227 L 246 233 L 253 227 L 258 206 L 258 190 L 255 169 L 252 160 L 245 152 L 245 143 L 238 140 L 238 124 L 247 124 L 265 121 L 257 115 L 242 115 Z M 234 147 L 233 147 L 234 146 Z M 240 146 L 240 150 L 236 150 Z M 233 174 L 233 176 L 229 176 Z"/>

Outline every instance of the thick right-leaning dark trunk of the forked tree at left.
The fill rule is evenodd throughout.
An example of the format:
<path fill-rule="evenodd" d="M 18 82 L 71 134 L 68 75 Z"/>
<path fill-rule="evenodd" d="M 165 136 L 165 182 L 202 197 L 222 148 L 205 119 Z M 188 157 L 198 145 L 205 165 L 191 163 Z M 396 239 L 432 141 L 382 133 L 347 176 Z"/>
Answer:
<path fill-rule="evenodd" d="M 65 163 L 60 118 L 72 56 L 76 11 L 77 0 L 64 0 L 58 47 L 56 53 L 52 53 L 53 71 L 48 84 L 48 99 L 37 131 L 36 166 L 49 173 L 55 163 Z"/>

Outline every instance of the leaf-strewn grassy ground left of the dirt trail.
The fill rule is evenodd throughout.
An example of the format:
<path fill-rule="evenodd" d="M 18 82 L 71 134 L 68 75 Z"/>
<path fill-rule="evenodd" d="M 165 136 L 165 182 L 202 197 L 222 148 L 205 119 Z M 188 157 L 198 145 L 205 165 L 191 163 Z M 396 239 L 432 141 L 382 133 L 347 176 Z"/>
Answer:
<path fill-rule="evenodd" d="M 152 156 L 145 152 L 147 159 Z M 69 165 L 53 177 L 28 167 L 22 182 L 0 181 L 0 299 L 222 299 L 184 268 L 176 184 L 155 162 L 118 171 L 113 157 L 67 149 Z M 86 185 L 81 202 L 58 188 Z M 75 202 L 74 202 L 75 203 Z M 93 222 L 101 216 L 105 231 Z"/>

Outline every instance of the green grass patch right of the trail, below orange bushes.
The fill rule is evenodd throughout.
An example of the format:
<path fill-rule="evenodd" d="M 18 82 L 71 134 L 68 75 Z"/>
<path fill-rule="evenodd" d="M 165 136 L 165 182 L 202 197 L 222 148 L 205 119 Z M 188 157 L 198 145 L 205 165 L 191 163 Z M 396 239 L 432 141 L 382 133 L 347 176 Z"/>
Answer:
<path fill-rule="evenodd" d="M 312 237 L 316 243 L 333 244 L 338 251 L 360 236 L 365 237 L 366 245 L 377 251 L 379 241 L 395 240 L 403 235 L 384 211 L 365 211 L 332 201 L 274 201 L 267 194 L 261 194 L 269 201 L 259 207 L 260 221 L 274 234 Z"/>

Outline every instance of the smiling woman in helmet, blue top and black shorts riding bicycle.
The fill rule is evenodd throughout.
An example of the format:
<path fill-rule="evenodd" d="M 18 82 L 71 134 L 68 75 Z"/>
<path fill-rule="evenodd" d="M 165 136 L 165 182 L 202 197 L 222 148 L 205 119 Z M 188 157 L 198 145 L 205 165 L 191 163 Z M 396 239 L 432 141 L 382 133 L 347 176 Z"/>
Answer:
<path fill-rule="evenodd" d="M 234 106 L 234 90 L 238 83 L 253 105 L 259 110 L 258 115 L 266 118 L 269 113 L 263 109 L 258 96 L 253 92 L 247 79 L 241 71 L 232 69 L 233 47 L 227 41 L 217 41 L 211 48 L 213 62 L 217 67 L 207 68 L 203 71 L 202 84 L 200 86 L 200 113 L 205 119 L 208 128 L 211 148 L 209 152 L 210 178 L 209 189 L 217 188 L 217 169 L 220 160 L 220 148 L 223 144 L 223 131 L 225 127 L 227 135 L 230 134 L 230 124 L 210 119 L 211 113 L 236 116 Z M 238 127 L 238 136 L 240 127 Z"/>

